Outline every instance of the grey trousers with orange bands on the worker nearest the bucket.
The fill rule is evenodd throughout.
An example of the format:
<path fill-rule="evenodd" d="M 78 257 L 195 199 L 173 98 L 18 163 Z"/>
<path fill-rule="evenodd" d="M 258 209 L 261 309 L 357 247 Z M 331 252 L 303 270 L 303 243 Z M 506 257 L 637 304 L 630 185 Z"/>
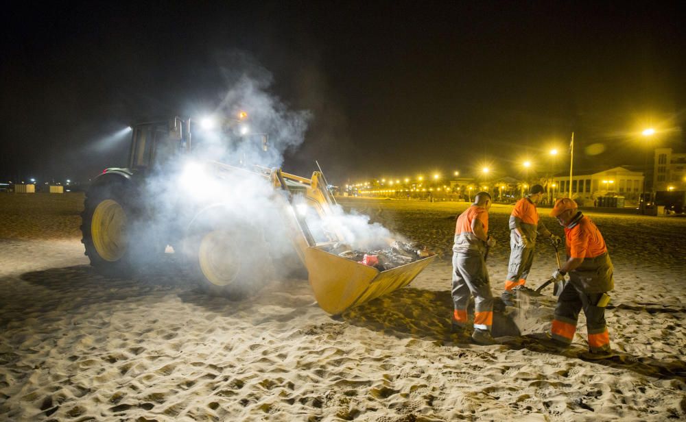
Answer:
<path fill-rule="evenodd" d="M 484 256 L 478 252 L 453 253 L 453 322 L 467 323 L 469 297 L 474 296 L 474 327 L 488 330 L 493 326 L 493 295 Z"/>

